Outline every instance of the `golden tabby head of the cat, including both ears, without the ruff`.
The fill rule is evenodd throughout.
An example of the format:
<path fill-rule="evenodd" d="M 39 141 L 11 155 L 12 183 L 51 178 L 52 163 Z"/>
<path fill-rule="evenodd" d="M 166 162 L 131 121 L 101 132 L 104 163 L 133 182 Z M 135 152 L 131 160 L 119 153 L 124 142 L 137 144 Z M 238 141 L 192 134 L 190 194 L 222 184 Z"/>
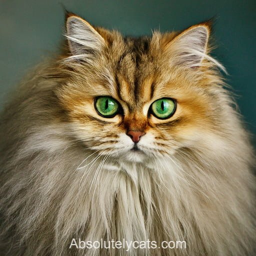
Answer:
<path fill-rule="evenodd" d="M 66 29 L 68 78 L 56 93 L 87 148 L 139 162 L 214 136 L 220 117 L 207 24 L 134 39 L 70 15 Z"/>

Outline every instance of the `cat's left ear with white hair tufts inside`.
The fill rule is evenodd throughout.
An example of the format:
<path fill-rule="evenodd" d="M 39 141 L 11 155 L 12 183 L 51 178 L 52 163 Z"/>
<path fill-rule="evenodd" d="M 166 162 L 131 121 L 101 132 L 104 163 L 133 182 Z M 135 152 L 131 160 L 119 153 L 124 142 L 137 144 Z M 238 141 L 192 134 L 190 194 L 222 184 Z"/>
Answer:
<path fill-rule="evenodd" d="M 66 18 L 65 36 L 73 55 L 100 52 L 105 45 L 103 37 L 87 21 L 72 14 Z"/>

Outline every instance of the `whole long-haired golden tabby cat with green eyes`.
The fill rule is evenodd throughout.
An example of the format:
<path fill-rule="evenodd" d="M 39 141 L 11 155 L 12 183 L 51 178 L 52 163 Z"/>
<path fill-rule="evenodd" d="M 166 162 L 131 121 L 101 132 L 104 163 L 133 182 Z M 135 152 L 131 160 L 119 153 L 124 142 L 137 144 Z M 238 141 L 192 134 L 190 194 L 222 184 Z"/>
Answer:
<path fill-rule="evenodd" d="M 63 49 L 1 115 L 3 255 L 252 255 L 253 149 L 210 34 L 124 37 L 67 13 Z"/>

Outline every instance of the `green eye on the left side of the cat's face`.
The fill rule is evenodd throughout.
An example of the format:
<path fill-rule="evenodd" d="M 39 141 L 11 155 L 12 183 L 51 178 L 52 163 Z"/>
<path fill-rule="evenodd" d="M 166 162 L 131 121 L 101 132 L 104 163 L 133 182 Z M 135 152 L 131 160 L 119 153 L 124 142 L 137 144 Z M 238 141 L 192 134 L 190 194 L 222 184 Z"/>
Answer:
<path fill-rule="evenodd" d="M 113 117 L 119 110 L 117 101 L 108 96 L 97 97 L 94 101 L 94 107 L 99 115 L 103 117 Z"/>

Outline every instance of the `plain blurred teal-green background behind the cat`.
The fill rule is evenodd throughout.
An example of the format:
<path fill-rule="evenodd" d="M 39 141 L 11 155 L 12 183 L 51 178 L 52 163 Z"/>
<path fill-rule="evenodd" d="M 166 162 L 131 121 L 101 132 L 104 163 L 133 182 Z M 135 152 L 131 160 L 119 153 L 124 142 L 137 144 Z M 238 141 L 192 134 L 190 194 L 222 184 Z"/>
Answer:
<path fill-rule="evenodd" d="M 215 16 L 213 55 L 227 68 L 247 127 L 256 133 L 255 0 L 0 0 L 0 107 L 27 69 L 63 38 L 61 3 L 92 24 L 127 35 L 180 30 Z"/>

